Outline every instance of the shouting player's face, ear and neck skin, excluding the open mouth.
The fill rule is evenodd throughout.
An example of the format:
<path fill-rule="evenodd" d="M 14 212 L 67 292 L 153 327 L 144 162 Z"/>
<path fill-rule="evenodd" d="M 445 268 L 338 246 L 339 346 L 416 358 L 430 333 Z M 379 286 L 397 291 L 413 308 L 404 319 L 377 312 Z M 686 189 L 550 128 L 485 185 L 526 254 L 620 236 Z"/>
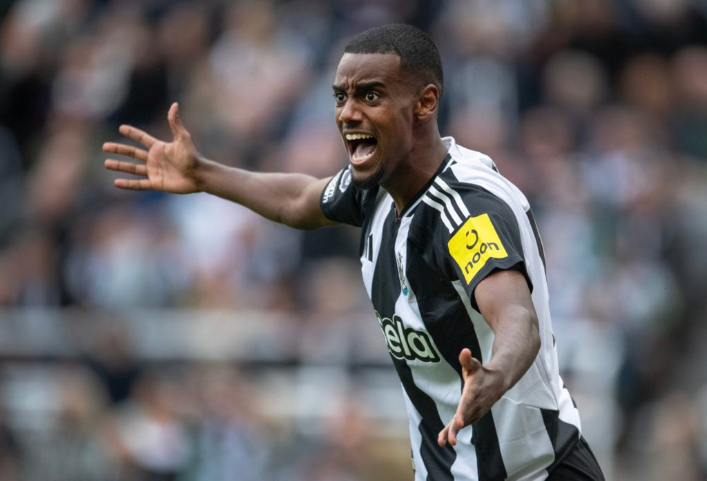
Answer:
<path fill-rule="evenodd" d="M 415 85 L 393 54 L 344 54 L 334 78 L 337 127 L 378 140 L 365 164 L 351 160 L 354 182 L 378 183 L 390 193 L 397 212 L 437 171 L 447 154 L 437 128 L 439 90 Z M 346 151 L 348 144 L 344 139 Z"/>

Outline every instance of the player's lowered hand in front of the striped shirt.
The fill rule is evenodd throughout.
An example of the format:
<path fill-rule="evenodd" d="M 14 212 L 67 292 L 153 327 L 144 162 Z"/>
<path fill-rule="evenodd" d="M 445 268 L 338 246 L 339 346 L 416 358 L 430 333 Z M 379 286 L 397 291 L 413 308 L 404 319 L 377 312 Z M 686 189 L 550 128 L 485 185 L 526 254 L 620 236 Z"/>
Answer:
<path fill-rule="evenodd" d="M 484 414 L 488 413 L 498 399 L 506 392 L 503 386 L 503 375 L 489 370 L 481 365 L 478 359 L 472 358 L 472 351 L 462 349 L 459 355 L 462 365 L 464 389 L 454 418 L 440 431 L 437 443 L 445 446 L 447 442 L 457 445 L 457 434 L 462 427 L 474 424 Z"/>

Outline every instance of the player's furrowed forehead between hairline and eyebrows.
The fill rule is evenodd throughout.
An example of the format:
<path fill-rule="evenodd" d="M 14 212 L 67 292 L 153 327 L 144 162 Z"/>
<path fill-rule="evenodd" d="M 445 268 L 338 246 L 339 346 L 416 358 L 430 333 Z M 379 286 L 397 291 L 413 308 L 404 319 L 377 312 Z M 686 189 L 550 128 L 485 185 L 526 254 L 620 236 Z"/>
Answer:
<path fill-rule="evenodd" d="M 335 87 L 350 88 L 358 83 L 395 82 L 400 71 L 400 57 L 395 54 L 344 54 L 334 78 Z"/>

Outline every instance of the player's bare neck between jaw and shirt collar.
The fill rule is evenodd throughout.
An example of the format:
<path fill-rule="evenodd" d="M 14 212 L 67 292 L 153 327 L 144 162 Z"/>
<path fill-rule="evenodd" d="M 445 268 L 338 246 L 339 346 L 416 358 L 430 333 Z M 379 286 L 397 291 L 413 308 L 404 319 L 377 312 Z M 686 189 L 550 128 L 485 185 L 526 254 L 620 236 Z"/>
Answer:
<path fill-rule="evenodd" d="M 447 147 L 439 133 L 430 142 L 413 146 L 408 161 L 404 162 L 399 173 L 392 176 L 395 185 L 382 185 L 393 198 L 398 215 L 435 175 L 446 155 Z"/>

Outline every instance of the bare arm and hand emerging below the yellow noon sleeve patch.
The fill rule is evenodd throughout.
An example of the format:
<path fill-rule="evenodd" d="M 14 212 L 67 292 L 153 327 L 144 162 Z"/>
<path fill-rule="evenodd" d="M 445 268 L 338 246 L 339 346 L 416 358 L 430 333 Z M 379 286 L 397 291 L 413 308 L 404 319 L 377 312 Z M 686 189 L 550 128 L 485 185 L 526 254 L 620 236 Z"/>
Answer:
<path fill-rule="evenodd" d="M 469 349 L 459 355 L 464 389 L 457 413 L 439 433 L 437 442 L 457 444 L 462 427 L 474 424 L 530 368 L 540 348 L 537 314 L 525 276 L 515 270 L 497 271 L 474 289 L 479 311 L 493 329 L 492 355 L 482 365 Z"/>

